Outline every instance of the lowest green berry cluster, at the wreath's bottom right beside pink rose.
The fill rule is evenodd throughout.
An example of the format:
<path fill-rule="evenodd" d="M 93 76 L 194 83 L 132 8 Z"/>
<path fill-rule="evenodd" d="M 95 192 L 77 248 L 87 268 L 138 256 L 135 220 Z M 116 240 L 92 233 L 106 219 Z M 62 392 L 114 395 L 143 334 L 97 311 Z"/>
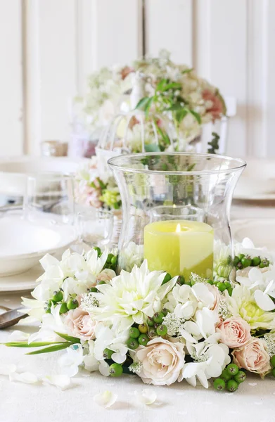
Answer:
<path fill-rule="evenodd" d="M 238 386 L 245 381 L 246 374 L 238 369 L 236 364 L 229 364 L 224 368 L 219 378 L 216 378 L 213 385 L 218 391 L 226 390 L 234 392 Z"/>

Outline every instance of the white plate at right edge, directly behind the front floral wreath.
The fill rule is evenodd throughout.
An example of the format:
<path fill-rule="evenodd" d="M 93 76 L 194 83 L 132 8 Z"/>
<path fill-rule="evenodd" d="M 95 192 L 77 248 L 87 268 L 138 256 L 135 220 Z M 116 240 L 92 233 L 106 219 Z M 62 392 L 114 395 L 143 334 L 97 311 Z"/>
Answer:
<path fill-rule="evenodd" d="M 270 219 L 238 219 L 231 222 L 234 241 L 243 241 L 248 237 L 256 248 L 264 246 L 271 253 L 275 253 L 275 218 Z"/>

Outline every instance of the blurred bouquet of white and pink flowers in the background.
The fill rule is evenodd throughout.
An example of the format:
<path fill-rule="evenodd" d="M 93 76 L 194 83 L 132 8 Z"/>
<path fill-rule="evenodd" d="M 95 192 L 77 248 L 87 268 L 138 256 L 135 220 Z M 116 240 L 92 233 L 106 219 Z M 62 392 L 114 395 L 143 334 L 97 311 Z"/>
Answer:
<path fill-rule="evenodd" d="M 133 108 L 129 93 L 138 73 L 143 84 L 137 108 L 145 110 L 146 115 L 158 116 L 155 123 L 160 151 L 166 151 L 170 146 L 165 117 L 172 122 L 176 149 L 184 151 L 186 145 L 200 135 L 202 124 L 215 122 L 226 114 L 224 99 L 216 87 L 198 77 L 188 66 L 174 63 L 167 51 L 160 51 L 157 58 L 147 57 L 129 65 L 102 68 L 90 75 L 87 94 L 76 98 L 76 104 L 79 120 L 91 135 L 108 125 L 120 111 Z M 133 117 L 130 129 L 130 149 L 141 152 L 139 118 Z M 146 144 L 151 145 L 151 140 L 146 139 Z"/>

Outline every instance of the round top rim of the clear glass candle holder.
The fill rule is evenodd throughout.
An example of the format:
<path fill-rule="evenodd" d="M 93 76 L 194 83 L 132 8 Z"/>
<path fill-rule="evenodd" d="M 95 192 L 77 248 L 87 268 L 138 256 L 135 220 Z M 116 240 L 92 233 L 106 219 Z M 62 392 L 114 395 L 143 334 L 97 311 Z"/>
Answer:
<path fill-rule="evenodd" d="M 146 157 L 152 157 L 153 155 L 181 155 L 181 156 L 189 156 L 189 157 L 198 157 L 198 158 L 216 158 L 218 160 L 222 161 L 229 161 L 229 162 L 236 162 L 236 165 L 234 167 L 229 167 L 227 169 L 220 169 L 220 170 L 191 170 L 191 171 L 178 171 L 178 170 L 146 170 L 146 169 L 134 169 L 132 167 L 124 167 L 120 164 L 118 164 L 119 160 L 121 158 L 127 158 L 129 160 L 128 166 L 130 166 L 130 160 L 132 158 L 146 158 Z M 230 157 L 228 155 L 220 155 L 220 154 L 199 154 L 199 153 L 166 153 L 166 152 L 153 152 L 153 153 L 135 153 L 135 154 L 121 154 L 116 155 L 115 157 L 109 158 L 108 165 L 112 170 L 121 170 L 123 172 L 129 172 L 129 173 L 146 173 L 146 174 L 181 174 L 181 175 L 203 175 L 203 174 L 223 174 L 223 173 L 231 173 L 236 172 L 238 170 L 243 170 L 246 167 L 246 162 L 242 158 L 234 158 Z"/>

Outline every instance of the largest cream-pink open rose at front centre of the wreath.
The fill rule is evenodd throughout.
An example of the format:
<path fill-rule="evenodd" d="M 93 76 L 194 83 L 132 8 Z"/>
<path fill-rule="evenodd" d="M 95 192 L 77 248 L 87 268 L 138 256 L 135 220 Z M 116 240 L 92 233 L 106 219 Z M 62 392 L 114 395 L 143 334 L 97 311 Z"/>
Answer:
<path fill-rule="evenodd" d="M 170 385 L 177 381 L 184 366 L 184 345 L 154 338 L 146 347 L 136 349 L 134 360 L 142 364 L 139 376 L 143 383 Z"/>

